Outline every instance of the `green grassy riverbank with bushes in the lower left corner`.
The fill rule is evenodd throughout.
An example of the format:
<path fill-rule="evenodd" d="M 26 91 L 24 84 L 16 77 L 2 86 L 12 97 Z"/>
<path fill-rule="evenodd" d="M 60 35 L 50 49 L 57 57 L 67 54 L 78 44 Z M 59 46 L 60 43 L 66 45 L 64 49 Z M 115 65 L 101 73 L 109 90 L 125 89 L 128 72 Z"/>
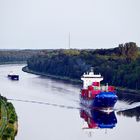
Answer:
<path fill-rule="evenodd" d="M 0 96 L 0 105 L 0 140 L 14 140 L 18 131 L 18 119 L 15 108 L 3 96 Z"/>

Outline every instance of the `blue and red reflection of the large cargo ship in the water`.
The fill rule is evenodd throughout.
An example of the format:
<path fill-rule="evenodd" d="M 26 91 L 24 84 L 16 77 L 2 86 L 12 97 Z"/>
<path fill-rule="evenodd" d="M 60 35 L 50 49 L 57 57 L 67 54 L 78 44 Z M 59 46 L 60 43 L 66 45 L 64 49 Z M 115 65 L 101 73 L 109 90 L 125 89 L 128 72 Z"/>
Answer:
<path fill-rule="evenodd" d="M 80 110 L 80 117 L 86 122 L 87 126 L 83 129 L 114 128 L 117 124 L 116 115 L 113 112 L 106 113 L 99 110 Z"/>

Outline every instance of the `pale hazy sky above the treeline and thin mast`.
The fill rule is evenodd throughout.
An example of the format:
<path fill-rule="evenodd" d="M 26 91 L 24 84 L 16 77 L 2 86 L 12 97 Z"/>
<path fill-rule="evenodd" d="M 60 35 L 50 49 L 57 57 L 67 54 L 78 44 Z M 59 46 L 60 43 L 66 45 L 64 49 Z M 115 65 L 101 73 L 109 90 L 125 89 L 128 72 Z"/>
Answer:
<path fill-rule="evenodd" d="M 0 0 L 0 49 L 140 46 L 140 0 Z"/>

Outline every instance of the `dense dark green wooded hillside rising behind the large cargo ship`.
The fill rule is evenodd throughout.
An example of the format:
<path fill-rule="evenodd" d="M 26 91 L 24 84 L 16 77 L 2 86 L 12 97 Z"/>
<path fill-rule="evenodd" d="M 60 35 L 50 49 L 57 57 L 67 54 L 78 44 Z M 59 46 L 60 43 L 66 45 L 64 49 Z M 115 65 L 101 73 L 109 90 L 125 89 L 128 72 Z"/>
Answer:
<path fill-rule="evenodd" d="M 77 80 L 92 66 L 95 73 L 103 75 L 105 83 L 140 89 L 140 50 L 134 42 L 112 49 L 44 50 L 27 64 L 35 72 Z"/>

